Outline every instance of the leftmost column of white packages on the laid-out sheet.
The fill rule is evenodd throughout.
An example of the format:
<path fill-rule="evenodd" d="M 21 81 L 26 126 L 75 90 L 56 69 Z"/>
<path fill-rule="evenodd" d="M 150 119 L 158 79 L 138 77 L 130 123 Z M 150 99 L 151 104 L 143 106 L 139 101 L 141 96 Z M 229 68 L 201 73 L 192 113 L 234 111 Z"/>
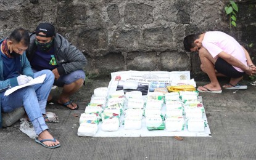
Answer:
<path fill-rule="evenodd" d="M 94 136 L 98 129 L 99 120 L 101 119 L 102 109 L 105 107 L 107 97 L 107 87 L 94 89 L 91 101 L 86 106 L 85 113 L 80 116 L 80 126 L 78 136 Z"/>

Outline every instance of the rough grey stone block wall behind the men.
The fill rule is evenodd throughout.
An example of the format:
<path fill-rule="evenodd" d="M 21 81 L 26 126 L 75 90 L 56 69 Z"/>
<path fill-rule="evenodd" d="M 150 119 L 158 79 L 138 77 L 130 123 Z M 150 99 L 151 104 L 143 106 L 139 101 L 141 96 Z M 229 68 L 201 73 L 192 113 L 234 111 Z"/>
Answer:
<path fill-rule="evenodd" d="M 88 58 L 90 78 L 123 70 L 183 71 L 200 75 L 196 53 L 185 52 L 184 36 L 225 31 L 256 55 L 255 1 L 239 5 L 237 28 L 229 30 L 224 7 L 217 0 L 8 0 L 0 1 L 0 37 L 14 28 L 33 32 L 51 22 Z"/>

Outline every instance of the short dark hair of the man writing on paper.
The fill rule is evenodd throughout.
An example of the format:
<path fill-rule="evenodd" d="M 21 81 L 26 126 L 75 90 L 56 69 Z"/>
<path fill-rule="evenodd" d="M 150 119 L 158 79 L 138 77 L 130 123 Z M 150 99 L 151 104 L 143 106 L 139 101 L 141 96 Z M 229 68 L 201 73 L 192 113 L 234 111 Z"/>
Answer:
<path fill-rule="evenodd" d="M 9 39 L 15 43 L 22 42 L 24 46 L 28 46 L 30 44 L 30 35 L 28 34 L 28 31 L 24 30 L 23 28 L 14 30 L 10 34 Z"/>

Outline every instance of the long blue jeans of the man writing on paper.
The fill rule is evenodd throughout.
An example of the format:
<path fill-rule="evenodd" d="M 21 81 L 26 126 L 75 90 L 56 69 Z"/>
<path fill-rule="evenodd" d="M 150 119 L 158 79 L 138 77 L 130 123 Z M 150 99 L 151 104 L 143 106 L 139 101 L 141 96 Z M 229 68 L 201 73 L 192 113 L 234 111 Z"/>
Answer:
<path fill-rule="evenodd" d="M 46 78 L 41 84 L 18 89 L 8 96 L 4 96 L 4 92 L 0 94 L 2 112 L 9 113 L 15 108 L 24 106 L 37 135 L 48 129 L 42 114 L 46 113 L 47 97 L 54 82 L 54 74 L 50 70 L 34 73 L 34 78 L 43 74 L 46 74 Z"/>

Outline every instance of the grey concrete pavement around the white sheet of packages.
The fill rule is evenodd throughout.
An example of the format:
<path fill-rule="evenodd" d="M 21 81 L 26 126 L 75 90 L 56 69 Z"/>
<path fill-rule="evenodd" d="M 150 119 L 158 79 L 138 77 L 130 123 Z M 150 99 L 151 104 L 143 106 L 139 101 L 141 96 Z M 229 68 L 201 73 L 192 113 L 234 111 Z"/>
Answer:
<path fill-rule="evenodd" d="M 256 159 L 256 86 L 243 81 L 247 90 L 226 90 L 222 94 L 200 93 L 212 137 L 78 137 L 79 118 L 93 90 L 107 87 L 107 80 L 90 81 L 72 98 L 80 106 L 71 111 L 64 106 L 47 105 L 59 116 L 48 124 L 60 148 L 44 148 L 19 130 L 19 122 L 0 129 L 0 159 Z M 197 86 L 207 82 L 197 82 Z M 225 82 L 221 82 L 221 85 Z M 52 90 L 54 99 L 60 89 Z M 236 92 L 235 92 L 236 91 Z"/>

